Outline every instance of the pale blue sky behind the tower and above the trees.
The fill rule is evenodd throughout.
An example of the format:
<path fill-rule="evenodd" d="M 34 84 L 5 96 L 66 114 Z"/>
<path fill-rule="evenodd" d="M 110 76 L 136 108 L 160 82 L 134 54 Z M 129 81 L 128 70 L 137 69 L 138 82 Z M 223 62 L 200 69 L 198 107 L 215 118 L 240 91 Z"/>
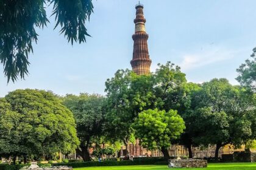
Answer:
<path fill-rule="evenodd" d="M 0 97 L 15 89 L 46 89 L 55 94 L 104 94 L 105 80 L 132 59 L 135 0 L 97 0 L 87 29 L 87 43 L 71 46 L 51 24 L 38 30 L 30 54 L 29 76 L 7 84 L 0 68 Z M 149 34 L 151 71 L 157 63 L 178 64 L 187 80 L 202 83 L 227 78 L 256 46 L 254 0 L 142 0 Z M 48 15 L 51 8 L 48 8 Z"/>

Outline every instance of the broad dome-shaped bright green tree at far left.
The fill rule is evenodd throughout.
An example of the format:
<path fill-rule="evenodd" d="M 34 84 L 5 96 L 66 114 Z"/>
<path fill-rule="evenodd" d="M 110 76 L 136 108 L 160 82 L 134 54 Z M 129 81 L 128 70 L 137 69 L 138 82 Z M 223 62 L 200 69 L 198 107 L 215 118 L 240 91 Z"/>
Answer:
<path fill-rule="evenodd" d="M 15 90 L 0 99 L 0 155 L 68 154 L 77 147 L 73 114 L 52 92 Z"/>

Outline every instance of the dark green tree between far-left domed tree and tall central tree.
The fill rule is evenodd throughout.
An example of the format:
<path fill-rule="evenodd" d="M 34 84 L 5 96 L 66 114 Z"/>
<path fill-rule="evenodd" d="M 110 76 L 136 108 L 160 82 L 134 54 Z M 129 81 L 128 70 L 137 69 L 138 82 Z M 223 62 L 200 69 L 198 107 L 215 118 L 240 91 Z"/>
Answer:
<path fill-rule="evenodd" d="M 90 147 L 93 143 L 98 144 L 104 136 L 105 98 L 97 94 L 66 95 L 63 104 L 73 112 L 76 119 L 77 136 L 80 140 L 77 154 L 84 161 L 90 161 Z"/>

